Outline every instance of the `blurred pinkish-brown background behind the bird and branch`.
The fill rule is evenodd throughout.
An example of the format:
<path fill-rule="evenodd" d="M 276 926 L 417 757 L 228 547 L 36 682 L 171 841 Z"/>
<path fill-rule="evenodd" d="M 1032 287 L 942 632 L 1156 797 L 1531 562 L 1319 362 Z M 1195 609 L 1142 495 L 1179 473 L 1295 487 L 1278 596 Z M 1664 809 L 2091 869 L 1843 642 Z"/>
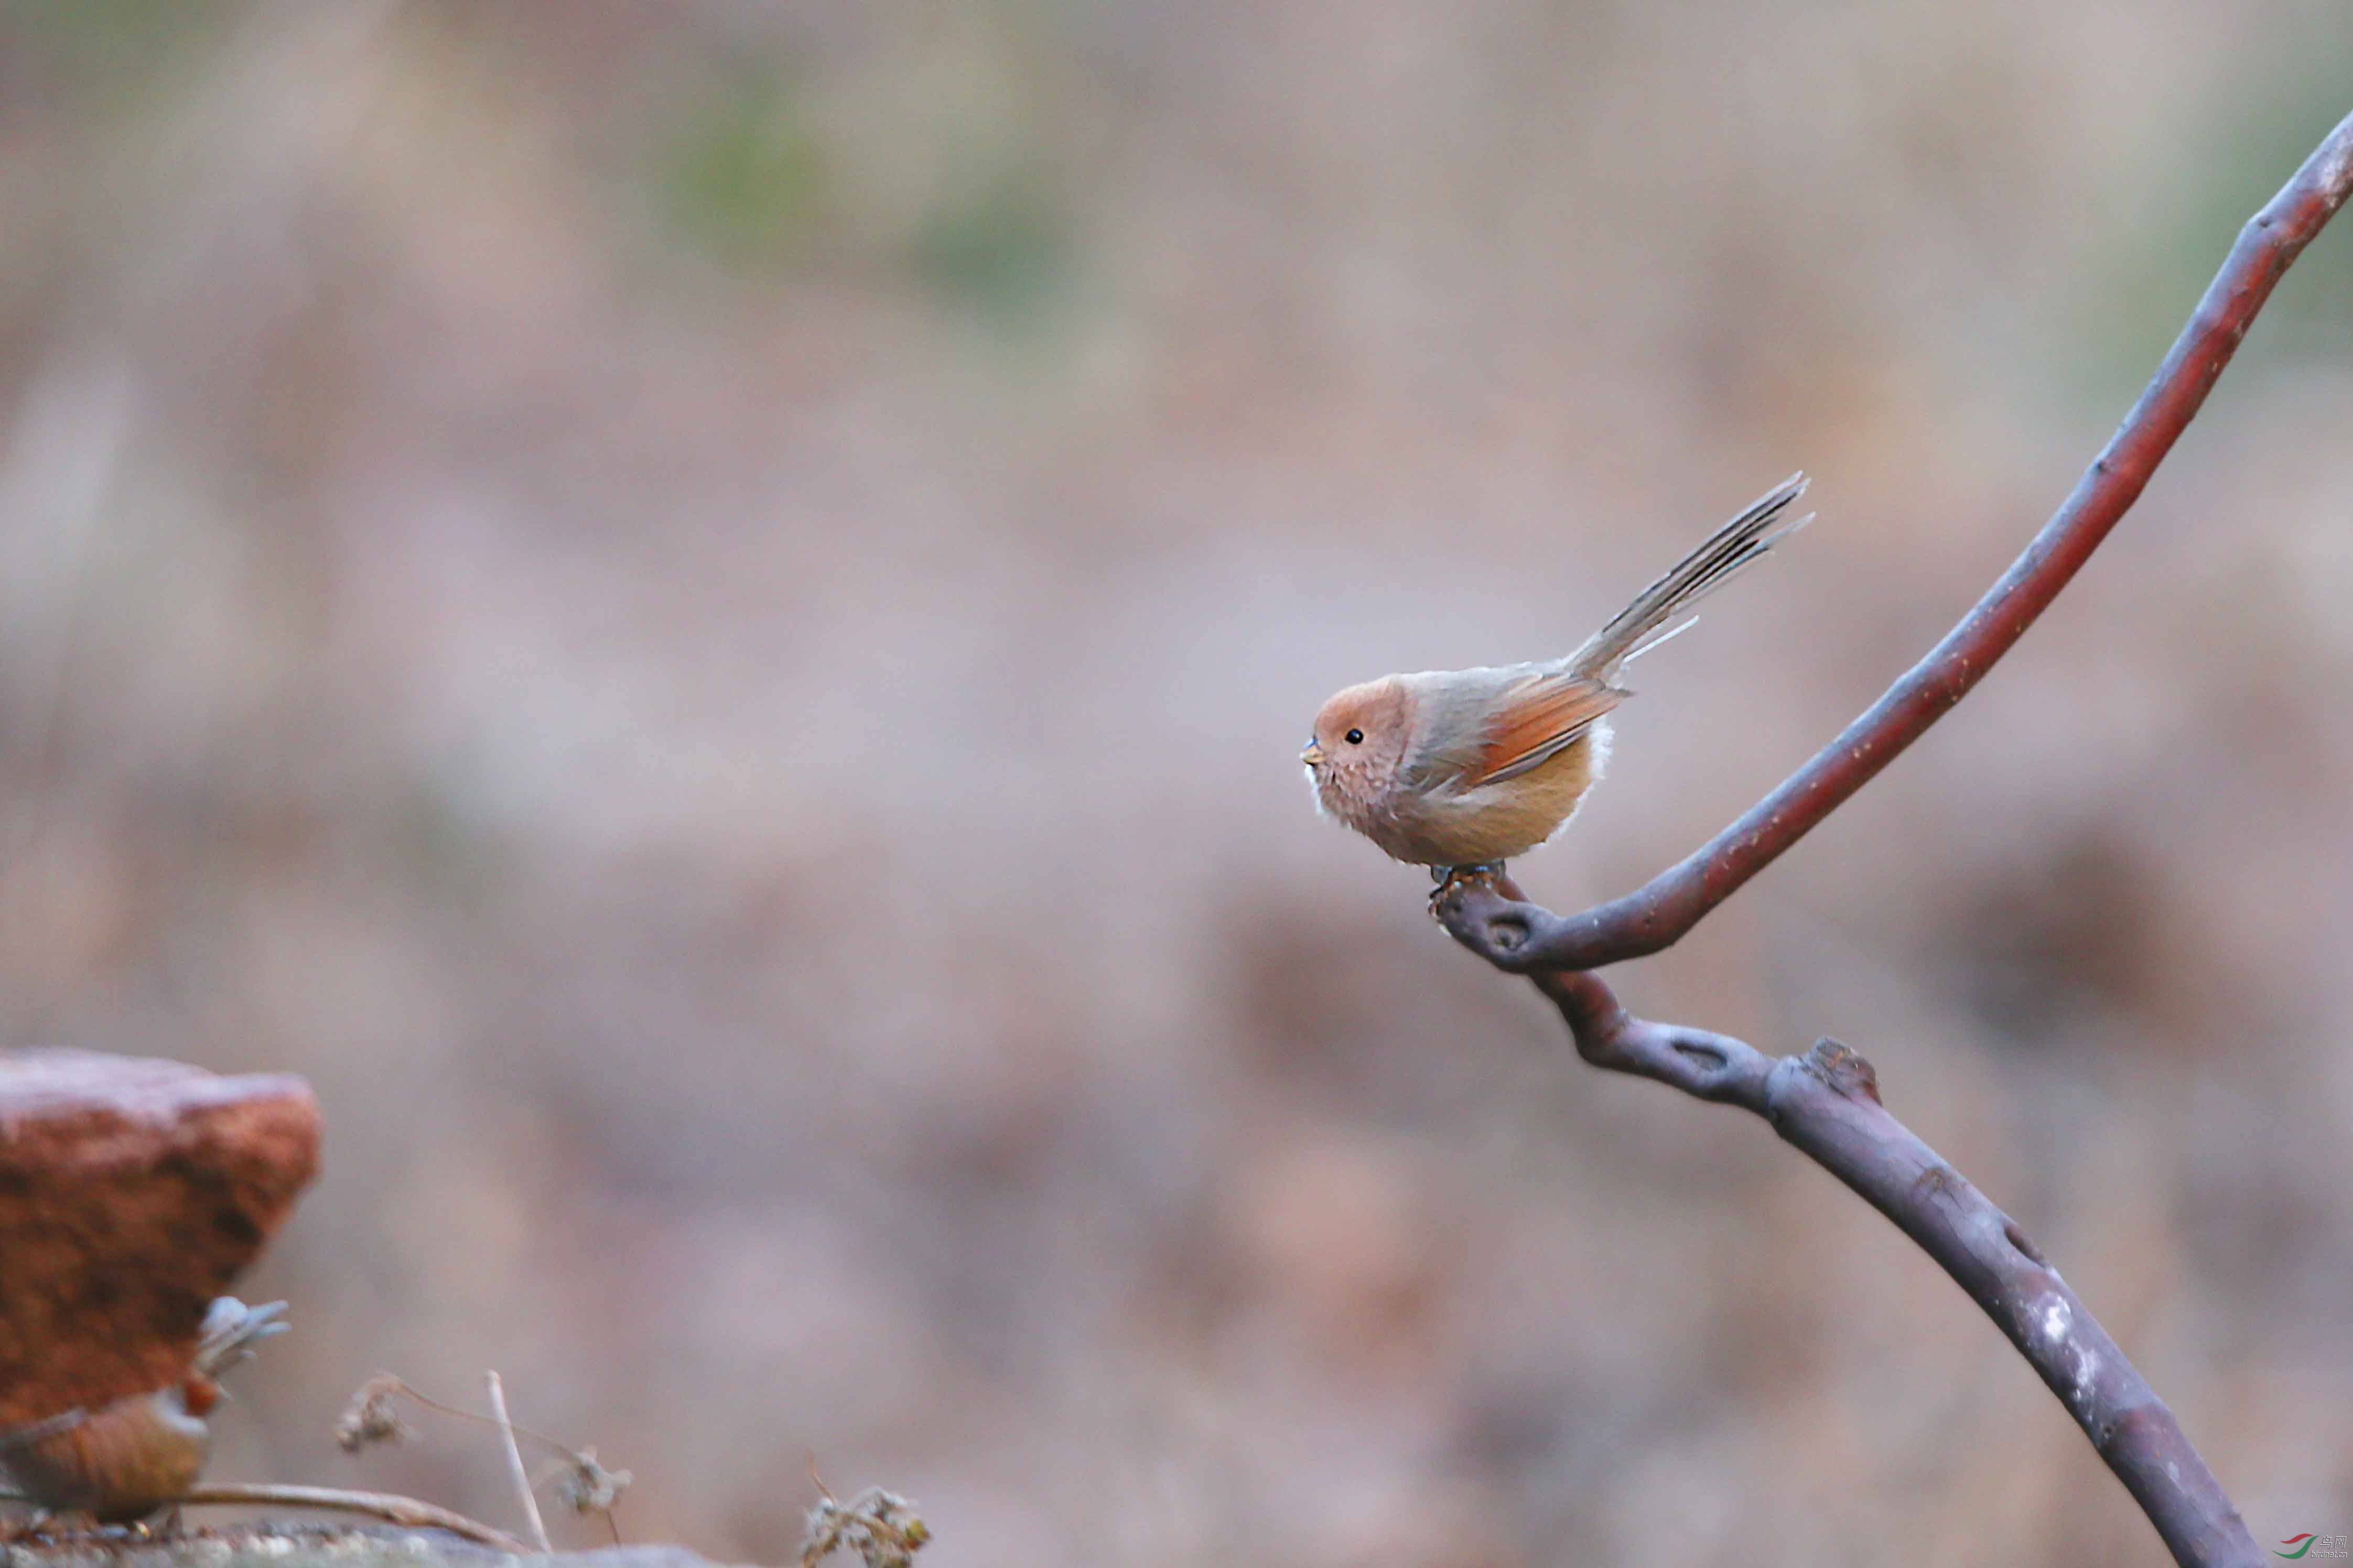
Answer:
<path fill-rule="evenodd" d="M 812 1455 L 941 1566 L 2155 1556 L 1294 757 L 1802 465 L 1520 877 L 1682 856 L 2066 494 L 2346 7 L 0 19 L 0 1041 L 327 1112 L 216 1476 L 508 1521 L 480 1432 L 329 1441 L 496 1366 L 720 1559 Z M 2353 1530 L 2348 430 L 2327 233 L 2007 665 L 1614 976 L 1871 1056 L 2268 1540 Z"/>

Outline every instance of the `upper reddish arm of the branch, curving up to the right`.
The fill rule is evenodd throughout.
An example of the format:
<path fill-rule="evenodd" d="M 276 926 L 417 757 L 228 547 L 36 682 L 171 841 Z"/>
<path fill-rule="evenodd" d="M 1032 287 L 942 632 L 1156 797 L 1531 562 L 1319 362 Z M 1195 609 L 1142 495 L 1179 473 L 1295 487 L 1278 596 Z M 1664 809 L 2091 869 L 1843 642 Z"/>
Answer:
<path fill-rule="evenodd" d="M 1986 597 L 1904 672 L 1859 719 L 1781 780 L 1729 827 L 1645 886 L 1581 914 L 1553 914 L 1515 903 L 1457 933 L 1499 969 L 1600 969 L 1673 947 L 1715 905 L 1732 898 L 1781 851 L 1802 839 L 1849 795 L 1918 741 L 1929 724 L 1965 698 L 1986 670 L 2026 635 L 2075 569 L 2141 496 L 2148 475 L 2172 451 L 2205 395 L 2231 362 L 2287 266 L 2313 242 L 2353 195 L 2353 115 L 2304 160 L 2297 176 L 2247 221 L 2231 259 L 2207 284 L 2205 299 L 2155 378 L 2132 404 L 2075 491 L 2042 524 L 2026 552 L 1986 590 Z"/>

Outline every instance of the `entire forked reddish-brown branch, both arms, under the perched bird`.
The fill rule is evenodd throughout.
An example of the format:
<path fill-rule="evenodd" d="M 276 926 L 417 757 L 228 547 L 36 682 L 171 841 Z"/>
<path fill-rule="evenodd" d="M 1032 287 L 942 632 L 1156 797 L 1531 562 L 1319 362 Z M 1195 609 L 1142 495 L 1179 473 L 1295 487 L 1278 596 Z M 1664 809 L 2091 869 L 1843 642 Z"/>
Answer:
<path fill-rule="evenodd" d="M 2026 552 L 1927 658 L 1739 820 L 1640 891 L 1584 914 L 1525 903 L 1501 875 L 1452 879 L 1435 903 L 1454 940 L 1551 997 L 1588 1063 L 1753 1110 L 1894 1220 L 2009 1335 L 2186 1566 L 2266 1559 L 2172 1410 L 2059 1272 L 1887 1114 L 1871 1063 L 1828 1039 L 1802 1058 L 1777 1058 L 1722 1034 L 1645 1023 L 1586 971 L 1671 947 L 1986 677 L 2139 498 L 2273 284 L 2348 195 L 2353 118 L 2240 230 L 2148 390 Z"/>

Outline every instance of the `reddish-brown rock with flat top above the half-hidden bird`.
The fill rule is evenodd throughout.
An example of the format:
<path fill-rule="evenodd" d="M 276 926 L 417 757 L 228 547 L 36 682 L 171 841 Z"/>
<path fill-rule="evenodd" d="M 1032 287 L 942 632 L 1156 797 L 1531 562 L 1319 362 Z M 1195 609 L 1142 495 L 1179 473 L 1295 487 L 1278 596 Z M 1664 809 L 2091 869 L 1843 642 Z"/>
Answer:
<path fill-rule="evenodd" d="M 172 1382 L 315 1168 L 296 1077 L 0 1051 L 0 1427 Z"/>

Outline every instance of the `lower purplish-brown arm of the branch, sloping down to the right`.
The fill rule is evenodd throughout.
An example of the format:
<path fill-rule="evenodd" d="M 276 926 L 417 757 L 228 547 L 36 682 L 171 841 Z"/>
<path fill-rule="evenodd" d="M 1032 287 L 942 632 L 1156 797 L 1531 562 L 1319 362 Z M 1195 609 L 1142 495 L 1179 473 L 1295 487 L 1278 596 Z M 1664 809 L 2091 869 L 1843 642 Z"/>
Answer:
<path fill-rule="evenodd" d="M 1511 898 L 1518 889 L 1504 877 L 1466 877 L 1447 889 L 1445 914 L 1449 926 L 1468 924 Z M 1871 1063 L 1833 1039 L 1805 1056 L 1767 1056 L 1725 1034 L 1647 1023 L 1593 973 L 1548 969 L 1532 978 L 1560 1009 L 1581 1058 L 1765 1117 L 1894 1220 L 2033 1363 L 2177 1563 L 2264 1561 L 2174 1413 L 2017 1220 L 1880 1105 Z"/>

